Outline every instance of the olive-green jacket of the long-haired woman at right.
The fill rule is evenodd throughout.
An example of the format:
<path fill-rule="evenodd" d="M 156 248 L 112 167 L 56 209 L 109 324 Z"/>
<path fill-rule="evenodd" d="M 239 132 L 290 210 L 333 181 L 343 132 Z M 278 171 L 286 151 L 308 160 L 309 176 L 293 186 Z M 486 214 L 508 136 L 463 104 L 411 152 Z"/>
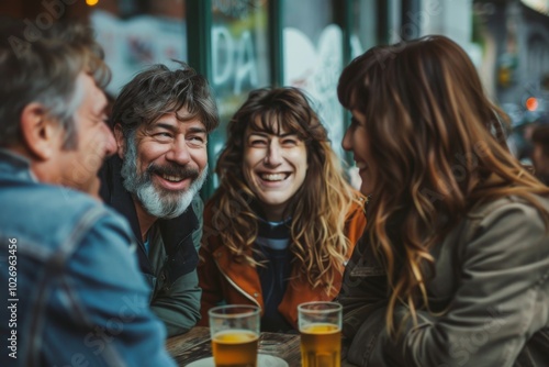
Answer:
<path fill-rule="evenodd" d="M 417 324 L 405 320 L 392 341 L 385 309 L 365 312 L 348 359 L 360 366 L 546 366 L 545 352 L 527 351 L 549 325 L 549 240 L 535 208 L 507 202 L 450 235 L 442 247 L 458 246 L 457 257 L 440 257 L 436 269 L 460 269 L 457 288 L 444 312 L 418 311 Z M 445 280 L 445 279 L 444 279 Z M 448 279 L 450 281 L 450 279 Z M 370 296 L 371 297 L 371 296 Z M 370 302 L 371 303 L 371 302 Z M 370 307 L 373 309 L 373 307 Z M 545 356 L 544 356 L 545 354 Z"/>

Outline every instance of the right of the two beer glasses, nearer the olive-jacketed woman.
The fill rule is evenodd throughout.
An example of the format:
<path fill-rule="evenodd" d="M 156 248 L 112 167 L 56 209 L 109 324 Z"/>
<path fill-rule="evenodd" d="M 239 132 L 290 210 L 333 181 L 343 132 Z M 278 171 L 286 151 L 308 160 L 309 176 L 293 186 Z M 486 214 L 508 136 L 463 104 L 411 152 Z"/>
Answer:
<path fill-rule="evenodd" d="M 306 302 L 298 305 L 303 367 L 341 365 L 341 305 Z"/>

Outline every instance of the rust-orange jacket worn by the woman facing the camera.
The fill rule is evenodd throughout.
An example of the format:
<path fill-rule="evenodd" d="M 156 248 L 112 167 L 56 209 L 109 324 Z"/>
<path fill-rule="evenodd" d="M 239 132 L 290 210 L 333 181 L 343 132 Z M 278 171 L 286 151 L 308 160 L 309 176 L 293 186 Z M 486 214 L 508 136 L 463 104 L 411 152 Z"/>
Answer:
<path fill-rule="evenodd" d="M 228 304 L 255 304 L 264 309 L 261 282 L 256 268 L 249 264 L 236 260 L 229 249 L 221 243 L 221 237 L 212 231 L 213 204 L 209 202 L 204 209 L 204 232 L 200 260 L 198 266 L 199 283 L 202 288 L 200 312 L 202 319 L 199 325 L 208 326 L 208 310 L 222 301 Z M 346 231 L 351 247 L 347 254 L 350 258 L 355 244 L 360 238 L 366 226 L 362 208 L 355 205 L 347 215 Z M 251 249 L 249 249 L 251 254 Z M 344 267 L 341 267 L 341 273 Z M 335 278 L 335 290 L 326 294 L 324 290 L 312 289 L 311 285 L 301 278 L 292 279 L 285 290 L 279 312 L 298 329 L 298 304 L 309 301 L 333 300 L 341 287 L 343 274 Z"/>

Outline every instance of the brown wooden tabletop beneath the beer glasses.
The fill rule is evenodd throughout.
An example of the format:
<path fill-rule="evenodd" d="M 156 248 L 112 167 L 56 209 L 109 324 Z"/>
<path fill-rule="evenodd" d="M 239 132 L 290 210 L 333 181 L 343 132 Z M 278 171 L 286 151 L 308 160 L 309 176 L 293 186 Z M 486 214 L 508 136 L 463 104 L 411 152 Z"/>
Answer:
<path fill-rule="evenodd" d="M 186 334 L 170 337 L 166 343 L 166 348 L 179 366 L 187 366 L 194 360 L 211 357 L 210 329 L 197 326 Z M 299 334 L 261 333 L 258 352 L 282 358 L 289 367 L 301 366 Z M 344 366 L 352 365 L 343 362 L 341 367 Z"/>

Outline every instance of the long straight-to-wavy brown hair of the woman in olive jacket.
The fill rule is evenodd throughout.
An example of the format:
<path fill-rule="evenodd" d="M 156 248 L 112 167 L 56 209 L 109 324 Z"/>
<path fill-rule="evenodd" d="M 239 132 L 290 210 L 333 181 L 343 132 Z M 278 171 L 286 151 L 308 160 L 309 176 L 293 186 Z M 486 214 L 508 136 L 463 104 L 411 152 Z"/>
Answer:
<path fill-rule="evenodd" d="M 533 194 L 549 191 L 509 154 L 504 114 L 464 51 L 445 36 L 369 49 L 344 69 L 337 91 L 366 120 L 365 148 L 376 164 L 367 231 L 388 270 L 386 324 L 397 335 L 395 305 L 405 304 L 414 321 L 418 307 L 428 308 L 429 249 L 473 205 L 516 196 L 547 225 Z"/>

